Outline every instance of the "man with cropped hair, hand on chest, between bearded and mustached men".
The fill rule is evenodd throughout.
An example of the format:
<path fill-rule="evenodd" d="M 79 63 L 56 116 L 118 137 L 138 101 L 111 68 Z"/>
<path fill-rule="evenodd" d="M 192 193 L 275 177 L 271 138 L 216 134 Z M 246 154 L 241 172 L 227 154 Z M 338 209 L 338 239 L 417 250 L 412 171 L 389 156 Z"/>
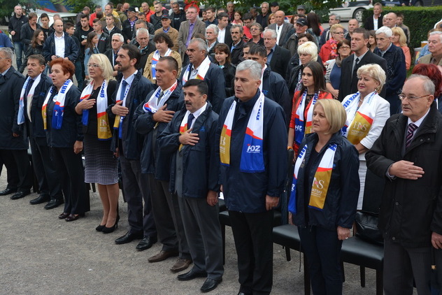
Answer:
<path fill-rule="evenodd" d="M 163 244 L 159 254 L 150 257 L 148 261 L 158 262 L 179 256 L 171 268 L 173 272 L 183 271 L 192 263 L 178 199 L 169 192 L 171 160 L 170 157 L 160 157 L 157 146 L 157 137 L 172 120 L 173 114 L 183 106 L 183 101 L 180 100 L 181 85 L 176 79 L 177 73 L 176 59 L 159 58 L 156 71 L 158 88 L 146 96 L 134 115 L 135 130 L 138 134 L 145 135 L 141 152 L 141 173 L 148 176 L 152 213 L 159 242 Z M 152 241 L 146 240 L 142 250 L 151 245 Z"/>

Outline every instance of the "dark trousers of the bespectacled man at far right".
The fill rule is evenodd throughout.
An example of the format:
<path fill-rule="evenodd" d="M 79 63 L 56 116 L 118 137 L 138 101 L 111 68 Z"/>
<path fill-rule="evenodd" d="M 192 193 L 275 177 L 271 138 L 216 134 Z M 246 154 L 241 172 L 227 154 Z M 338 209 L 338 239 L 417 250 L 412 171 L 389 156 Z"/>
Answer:
<path fill-rule="evenodd" d="M 384 294 L 413 294 L 414 278 L 418 294 L 429 295 L 431 263 L 431 246 L 406 248 L 384 240 Z"/>

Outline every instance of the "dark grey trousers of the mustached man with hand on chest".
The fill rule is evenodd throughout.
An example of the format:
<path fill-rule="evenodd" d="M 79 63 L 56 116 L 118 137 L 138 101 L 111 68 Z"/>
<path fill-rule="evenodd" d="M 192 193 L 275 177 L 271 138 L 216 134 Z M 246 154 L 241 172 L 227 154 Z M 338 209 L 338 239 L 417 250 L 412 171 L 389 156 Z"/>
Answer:
<path fill-rule="evenodd" d="M 224 266 L 218 205 L 210 206 L 206 198 L 178 197 L 178 201 L 194 270 L 220 280 Z"/>

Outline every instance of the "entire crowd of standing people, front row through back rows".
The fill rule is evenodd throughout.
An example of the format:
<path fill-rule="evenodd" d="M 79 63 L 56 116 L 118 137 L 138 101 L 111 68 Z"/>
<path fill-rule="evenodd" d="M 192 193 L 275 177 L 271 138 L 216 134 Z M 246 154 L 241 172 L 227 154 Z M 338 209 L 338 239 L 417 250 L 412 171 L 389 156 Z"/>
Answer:
<path fill-rule="evenodd" d="M 228 2 L 201 20 L 194 5 L 109 2 L 85 7 L 76 24 L 55 15 L 49 26 L 43 13 L 40 26 L 15 6 L 13 44 L 0 48 L 0 195 L 27 196 L 34 175 L 30 203 L 64 204 L 58 218 L 73 222 L 90 210 L 85 183 L 97 183 L 96 230 L 107 234 L 120 221 L 121 188 L 129 229 L 115 243 L 161 243 L 148 261 L 178 257 L 174 273 L 193 264 L 177 278 L 206 278 L 201 292 L 224 273 L 222 196 L 238 294 L 271 292 L 281 199 L 313 293 L 342 294 L 341 246 L 371 203 L 385 294 L 412 294 L 413 280 L 430 294 L 432 257 L 442 267 L 442 31 L 429 32 L 429 53 L 407 79 L 410 30 L 380 3 L 348 29 L 336 13 L 324 29 L 303 5 L 291 17 L 277 2 L 260 10 Z"/>

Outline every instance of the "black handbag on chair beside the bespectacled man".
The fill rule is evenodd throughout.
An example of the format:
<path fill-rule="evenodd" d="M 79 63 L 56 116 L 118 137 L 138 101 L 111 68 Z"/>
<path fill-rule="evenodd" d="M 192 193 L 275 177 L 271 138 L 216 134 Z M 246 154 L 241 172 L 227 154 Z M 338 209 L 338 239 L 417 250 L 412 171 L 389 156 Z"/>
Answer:
<path fill-rule="evenodd" d="M 384 238 L 378 229 L 378 214 L 357 211 L 355 218 L 356 236 L 367 242 L 384 245 Z"/>

